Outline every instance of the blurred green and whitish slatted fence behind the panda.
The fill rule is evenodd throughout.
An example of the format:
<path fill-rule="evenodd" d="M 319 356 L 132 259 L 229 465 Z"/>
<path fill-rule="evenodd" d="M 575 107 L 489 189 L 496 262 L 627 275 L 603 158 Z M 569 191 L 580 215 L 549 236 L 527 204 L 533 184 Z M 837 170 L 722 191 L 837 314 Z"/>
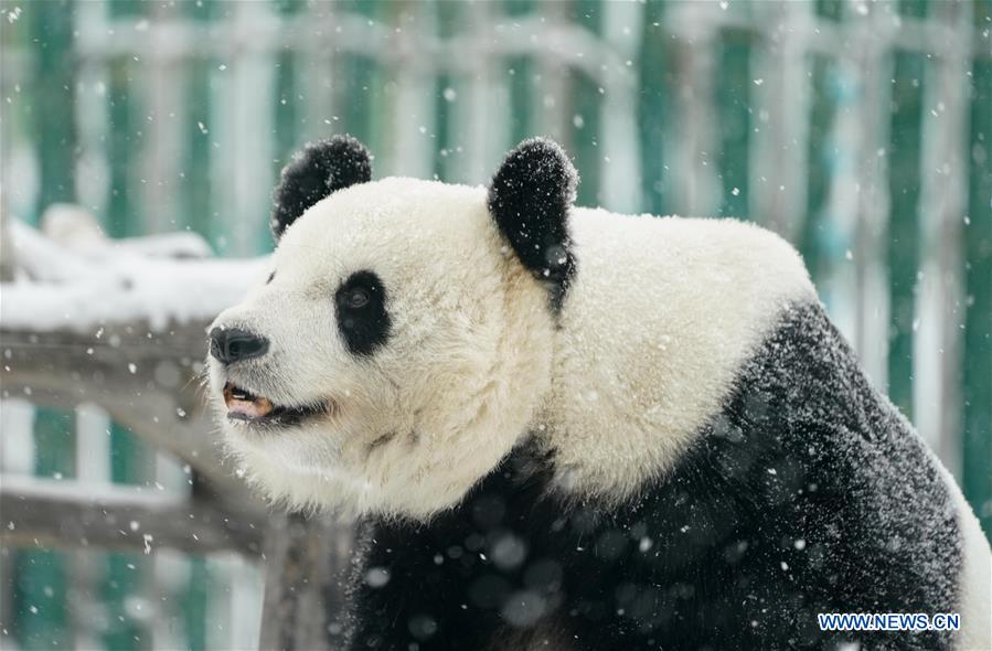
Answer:
<path fill-rule="evenodd" d="M 376 177 L 476 184 L 550 136 L 583 205 L 736 216 L 794 243 L 990 533 L 990 30 L 992 0 L 2 0 L 0 210 L 42 227 L 77 204 L 113 238 L 188 232 L 248 258 L 271 249 L 270 190 L 307 140 L 349 132 Z M 10 341 L 31 316 L 2 295 L 32 279 L 7 265 Z M 3 386 L 0 483 L 194 490 L 99 404 L 30 388 Z M 250 558 L 34 543 L 0 554 L 6 649 L 258 643 Z"/>

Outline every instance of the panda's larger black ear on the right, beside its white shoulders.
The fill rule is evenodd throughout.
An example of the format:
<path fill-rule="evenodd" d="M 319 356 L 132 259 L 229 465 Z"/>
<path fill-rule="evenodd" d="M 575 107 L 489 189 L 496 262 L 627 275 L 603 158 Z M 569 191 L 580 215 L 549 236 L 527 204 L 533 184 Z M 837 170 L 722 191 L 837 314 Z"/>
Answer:
<path fill-rule="evenodd" d="M 518 145 L 489 186 L 489 212 L 524 267 L 550 284 L 557 310 L 575 274 L 568 212 L 578 175 L 565 151 L 551 140 Z"/>

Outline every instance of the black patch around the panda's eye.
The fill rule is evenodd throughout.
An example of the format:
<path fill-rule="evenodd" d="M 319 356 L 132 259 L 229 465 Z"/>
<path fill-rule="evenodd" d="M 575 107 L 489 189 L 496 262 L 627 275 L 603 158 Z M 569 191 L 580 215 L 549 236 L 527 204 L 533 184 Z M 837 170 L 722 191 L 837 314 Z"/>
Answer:
<path fill-rule="evenodd" d="M 355 271 L 334 294 L 338 329 L 348 350 L 371 355 L 390 338 L 386 290 L 373 271 Z"/>

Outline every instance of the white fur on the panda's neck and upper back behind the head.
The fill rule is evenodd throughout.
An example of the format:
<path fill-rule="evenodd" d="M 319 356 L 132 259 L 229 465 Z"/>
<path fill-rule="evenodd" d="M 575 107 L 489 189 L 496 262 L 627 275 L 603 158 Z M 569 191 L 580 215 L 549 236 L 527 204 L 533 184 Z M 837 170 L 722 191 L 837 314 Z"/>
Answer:
<path fill-rule="evenodd" d="M 796 250 L 750 224 L 600 210 L 572 224 L 579 271 L 542 419 L 562 485 L 622 500 L 717 413 L 782 308 L 815 295 Z"/>

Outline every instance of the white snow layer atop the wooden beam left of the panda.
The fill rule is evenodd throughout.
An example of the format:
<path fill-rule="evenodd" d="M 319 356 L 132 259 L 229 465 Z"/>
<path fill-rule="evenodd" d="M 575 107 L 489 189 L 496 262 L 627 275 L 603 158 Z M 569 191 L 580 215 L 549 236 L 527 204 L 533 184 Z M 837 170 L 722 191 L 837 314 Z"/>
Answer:
<path fill-rule="evenodd" d="M 0 329 L 93 332 L 106 323 L 145 321 L 161 330 L 210 321 L 268 268 L 267 256 L 205 257 L 210 247 L 192 233 L 110 241 L 81 236 L 87 227 L 82 218 L 60 223 L 49 238 L 11 221 L 17 277 L 0 285 Z"/>

